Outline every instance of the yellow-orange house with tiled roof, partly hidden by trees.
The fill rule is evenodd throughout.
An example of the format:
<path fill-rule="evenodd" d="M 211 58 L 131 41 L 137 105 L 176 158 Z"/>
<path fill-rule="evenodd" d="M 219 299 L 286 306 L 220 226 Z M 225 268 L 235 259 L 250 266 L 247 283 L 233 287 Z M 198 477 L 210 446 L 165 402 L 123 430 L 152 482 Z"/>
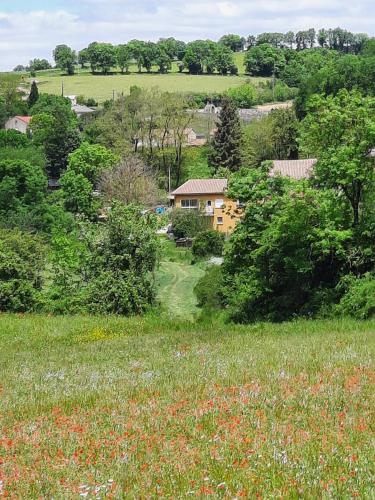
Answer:
<path fill-rule="evenodd" d="M 241 212 L 236 201 L 226 196 L 227 179 L 191 179 L 171 193 L 174 206 L 200 210 L 210 218 L 212 228 L 226 235 L 234 231 Z"/>

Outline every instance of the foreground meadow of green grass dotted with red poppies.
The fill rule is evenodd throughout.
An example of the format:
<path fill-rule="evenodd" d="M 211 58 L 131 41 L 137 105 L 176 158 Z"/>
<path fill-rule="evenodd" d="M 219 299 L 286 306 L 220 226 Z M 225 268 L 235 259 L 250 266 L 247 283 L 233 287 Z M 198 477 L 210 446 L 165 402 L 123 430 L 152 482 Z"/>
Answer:
<path fill-rule="evenodd" d="M 0 316 L 0 495 L 371 498 L 375 321 Z"/>

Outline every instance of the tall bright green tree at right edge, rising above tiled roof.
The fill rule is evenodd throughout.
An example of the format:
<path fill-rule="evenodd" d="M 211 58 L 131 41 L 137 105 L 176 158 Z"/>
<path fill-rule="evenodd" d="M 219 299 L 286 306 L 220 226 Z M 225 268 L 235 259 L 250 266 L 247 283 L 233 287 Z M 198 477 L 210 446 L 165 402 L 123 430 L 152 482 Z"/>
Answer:
<path fill-rule="evenodd" d="M 364 192 L 374 181 L 368 154 L 375 144 L 375 99 L 341 90 L 314 96 L 301 129 L 301 150 L 318 158 L 317 185 L 340 190 L 350 202 L 353 224 L 360 222 Z"/>

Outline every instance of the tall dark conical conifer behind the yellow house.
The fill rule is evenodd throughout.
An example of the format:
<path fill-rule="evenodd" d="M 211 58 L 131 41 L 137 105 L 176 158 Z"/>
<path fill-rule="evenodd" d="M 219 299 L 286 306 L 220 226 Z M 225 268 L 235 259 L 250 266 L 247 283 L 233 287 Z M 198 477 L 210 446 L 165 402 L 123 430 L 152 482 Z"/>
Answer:
<path fill-rule="evenodd" d="M 241 123 L 234 102 L 225 97 L 217 131 L 212 141 L 209 164 L 215 172 L 227 168 L 234 172 L 241 166 Z"/>

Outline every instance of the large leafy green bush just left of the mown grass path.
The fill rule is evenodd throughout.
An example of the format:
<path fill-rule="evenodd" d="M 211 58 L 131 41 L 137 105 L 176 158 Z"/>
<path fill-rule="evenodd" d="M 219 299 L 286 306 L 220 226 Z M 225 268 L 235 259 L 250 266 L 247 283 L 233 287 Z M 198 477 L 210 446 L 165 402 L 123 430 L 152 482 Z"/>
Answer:
<path fill-rule="evenodd" d="M 92 242 L 88 308 L 101 314 L 143 312 L 155 298 L 156 220 L 136 206 L 115 204 L 100 239 Z"/>

